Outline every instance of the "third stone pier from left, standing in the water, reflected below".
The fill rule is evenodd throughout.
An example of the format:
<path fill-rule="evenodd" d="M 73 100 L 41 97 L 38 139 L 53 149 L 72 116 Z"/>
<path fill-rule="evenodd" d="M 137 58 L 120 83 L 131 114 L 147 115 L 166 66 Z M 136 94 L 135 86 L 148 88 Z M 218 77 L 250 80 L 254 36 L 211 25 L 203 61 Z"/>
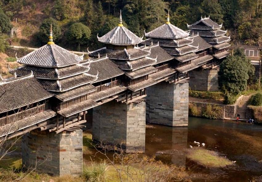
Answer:
<path fill-rule="evenodd" d="M 188 126 L 188 82 L 160 82 L 146 91 L 147 122 L 165 126 Z"/>

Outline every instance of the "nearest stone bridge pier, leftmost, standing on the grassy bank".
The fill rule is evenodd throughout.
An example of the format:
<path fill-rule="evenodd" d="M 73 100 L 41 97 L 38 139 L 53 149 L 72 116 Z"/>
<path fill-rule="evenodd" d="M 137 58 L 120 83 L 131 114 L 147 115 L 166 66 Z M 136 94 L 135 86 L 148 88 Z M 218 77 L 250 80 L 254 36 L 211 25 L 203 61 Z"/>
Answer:
<path fill-rule="evenodd" d="M 83 170 L 83 133 L 31 131 L 22 140 L 23 165 L 49 175 L 79 176 Z"/>

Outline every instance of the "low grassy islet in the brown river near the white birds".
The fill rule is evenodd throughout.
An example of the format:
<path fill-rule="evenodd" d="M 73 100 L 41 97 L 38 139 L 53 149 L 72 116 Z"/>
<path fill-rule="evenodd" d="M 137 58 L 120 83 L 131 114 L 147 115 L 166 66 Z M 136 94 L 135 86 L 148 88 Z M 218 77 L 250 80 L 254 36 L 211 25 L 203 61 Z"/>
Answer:
<path fill-rule="evenodd" d="M 202 148 L 191 149 L 187 157 L 200 165 L 211 168 L 220 168 L 231 165 L 233 162 L 221 157 L 215 151 Z"/>

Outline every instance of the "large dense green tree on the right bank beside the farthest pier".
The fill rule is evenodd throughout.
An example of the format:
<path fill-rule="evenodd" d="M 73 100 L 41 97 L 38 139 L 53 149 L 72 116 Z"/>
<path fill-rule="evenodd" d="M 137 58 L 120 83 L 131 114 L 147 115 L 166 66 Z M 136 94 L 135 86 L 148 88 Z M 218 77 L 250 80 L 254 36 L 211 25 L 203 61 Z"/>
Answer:
<path fill-rule="evenodd" d="M 228 56 L 220 64 L 218 75 L 219 87 L 227 102 L 231 100 L 230 97 L 237 96 L 247 88 L 248 80 L 254 75 L 254 67 L 243 50 L 237 49 L 234 55 Z"/>

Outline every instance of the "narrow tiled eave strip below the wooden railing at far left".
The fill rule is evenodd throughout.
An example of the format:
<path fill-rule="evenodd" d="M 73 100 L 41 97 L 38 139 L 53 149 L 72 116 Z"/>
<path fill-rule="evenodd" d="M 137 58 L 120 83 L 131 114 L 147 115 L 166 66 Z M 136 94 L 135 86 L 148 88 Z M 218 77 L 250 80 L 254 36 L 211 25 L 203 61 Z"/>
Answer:
<path fill-rule="evenodd" d="M 0 137 L 5 136 L 7 134 L 14 133 L 16 131 L 22 130 L 29 126 L 35 125 L 39 122 L 43 122 L 49 118 L 52 118 L 56 115 L 56 113 L 52 110 L 46 110 L 41 113 L 35 114 L 33 116 L 24 118 L 20 121 L 9 123 L 5 126 L 0 127 Z"/>

